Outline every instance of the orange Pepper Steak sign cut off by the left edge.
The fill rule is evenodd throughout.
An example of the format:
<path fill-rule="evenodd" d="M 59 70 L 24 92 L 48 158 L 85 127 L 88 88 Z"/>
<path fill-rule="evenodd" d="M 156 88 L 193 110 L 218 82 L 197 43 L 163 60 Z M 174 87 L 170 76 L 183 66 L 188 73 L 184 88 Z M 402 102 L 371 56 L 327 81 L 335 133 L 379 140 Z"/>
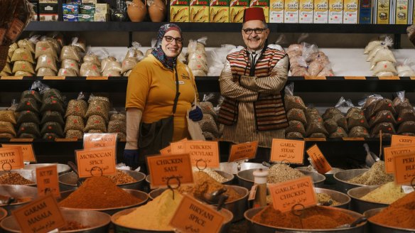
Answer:
<path fill-rule="evenodd" d="M 0 170 L 24 168 L 21 147 L 0 148 Z"/>

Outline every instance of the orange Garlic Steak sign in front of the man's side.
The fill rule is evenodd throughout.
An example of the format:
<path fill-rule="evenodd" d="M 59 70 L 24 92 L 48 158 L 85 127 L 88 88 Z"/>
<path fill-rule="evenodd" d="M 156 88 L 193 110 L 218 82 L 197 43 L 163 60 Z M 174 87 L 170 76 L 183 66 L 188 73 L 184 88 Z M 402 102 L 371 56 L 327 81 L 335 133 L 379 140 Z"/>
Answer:
<path fill-rule="evenodd" d="M 271 161 L 303 164 L 305 141 L 272 139 Z"/>

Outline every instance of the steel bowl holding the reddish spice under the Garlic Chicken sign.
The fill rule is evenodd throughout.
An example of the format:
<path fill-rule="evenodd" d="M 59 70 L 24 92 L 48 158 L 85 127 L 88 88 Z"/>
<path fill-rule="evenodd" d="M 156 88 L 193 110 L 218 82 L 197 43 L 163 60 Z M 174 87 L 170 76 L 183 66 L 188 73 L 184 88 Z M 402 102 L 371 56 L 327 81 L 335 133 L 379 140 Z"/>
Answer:
<path fill-rule="evenodd" d="M 252 217 L 256 215 L 259 211 L 261 211 L 264 207 L 257 207 L 254 209 L 247 210 L 244 212 L 244 217 L 247 219 L 248 226 L 249 226 L 249 232 L 258 232 L 258 233 L 275 233 L 275 232 L 333 232 L 333 233 L 357 233 L 357 232 L 365 232 L 365 224 L 366 222 L 362 222 L 361 224 L 358 224 L 356 227 L 348 227 L 348 228 L 339 228 L 339 229 L 294 229 L 294 228 L 283 228 L 283 227 L 274 227 L 267 224 L 257 223 L 252 221 Z M 331 208 L 335 209 L 340 212 L 345 212 L 349 215 L 352 215 L 352 217 L 355 217 L 356 219 L 359 217 L 362 217 L 357 212 L 353 212 L 351 210 L 344 210 L 336 207 L 324 207 L 324 208 Z"/>

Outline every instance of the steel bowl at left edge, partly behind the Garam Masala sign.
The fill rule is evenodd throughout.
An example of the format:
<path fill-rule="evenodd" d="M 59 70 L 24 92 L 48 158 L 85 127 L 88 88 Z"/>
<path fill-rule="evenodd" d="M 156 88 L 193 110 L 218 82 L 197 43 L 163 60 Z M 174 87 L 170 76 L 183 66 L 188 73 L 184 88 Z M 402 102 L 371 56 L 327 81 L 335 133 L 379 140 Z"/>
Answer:
<path fill-rule="evenodd" d="M 36 187 L 26 185 L 0 185 L 0 195 L 15 198 L 30 198 L 30 200 L 28 200 L 27 202 L 12 203 L 10 205 L 0 205 L 0 207 L 6 209 L 9 215 L 11 215 L 12 210 L 16 210 L 22 207 L 23 205 L 28 204 L 28 202 L 31 202 L 33 199 L 36 199 L 38 197 L 38 189 Z"/>

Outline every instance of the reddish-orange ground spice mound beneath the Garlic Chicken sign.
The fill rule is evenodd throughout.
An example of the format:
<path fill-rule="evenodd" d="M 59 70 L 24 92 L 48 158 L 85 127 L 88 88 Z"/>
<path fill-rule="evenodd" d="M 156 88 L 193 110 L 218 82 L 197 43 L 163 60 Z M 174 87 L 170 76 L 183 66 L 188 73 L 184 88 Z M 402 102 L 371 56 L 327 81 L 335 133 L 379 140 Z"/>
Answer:
<path fill-rule="evenodd" d="M 273 227 L 294 229 L 333 229 L 342 224 L 350 224 L 355 217 L 335 208 L 314 206 L 303 210 L 301 217 L 293 215 L 291 211 L 281 212 L 271 205 L 264 208 L 252 217 L 254 222 L 271 225 Z"/>

